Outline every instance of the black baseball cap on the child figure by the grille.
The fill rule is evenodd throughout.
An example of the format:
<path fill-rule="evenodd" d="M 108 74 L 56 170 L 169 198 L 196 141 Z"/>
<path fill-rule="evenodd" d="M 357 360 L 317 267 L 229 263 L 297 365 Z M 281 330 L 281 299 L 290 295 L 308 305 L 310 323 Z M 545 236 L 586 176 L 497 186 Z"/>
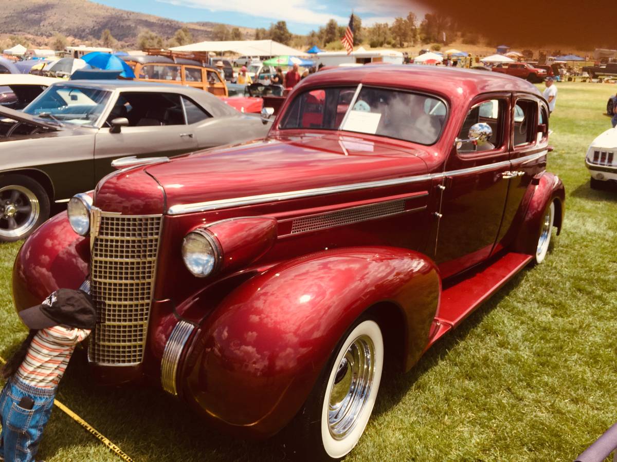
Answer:
<path fill-rule="evenodd" d="M 92 329 L 96 323 L 96 310 L 92 299 L 84 291 L 58 289 L 40 305 L 20 311 L 19 317 L 30 329 L 57 325 Z"/>

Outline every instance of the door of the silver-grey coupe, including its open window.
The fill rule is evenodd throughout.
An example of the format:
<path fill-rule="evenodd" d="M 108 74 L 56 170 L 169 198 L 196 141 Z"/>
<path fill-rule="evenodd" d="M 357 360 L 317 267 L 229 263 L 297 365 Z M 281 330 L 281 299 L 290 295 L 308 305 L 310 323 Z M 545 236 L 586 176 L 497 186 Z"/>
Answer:
<path fill-rule="evenodd" d="M 115 118 L 128 119 L 114 133 Z M 197 139 L 186 115 L 180 94 L 160 91 L 122 92 L 96 134 L 95 176 L 112 171 L 111 162 L 125 156 L 174 156 L 197 148 Z"/>

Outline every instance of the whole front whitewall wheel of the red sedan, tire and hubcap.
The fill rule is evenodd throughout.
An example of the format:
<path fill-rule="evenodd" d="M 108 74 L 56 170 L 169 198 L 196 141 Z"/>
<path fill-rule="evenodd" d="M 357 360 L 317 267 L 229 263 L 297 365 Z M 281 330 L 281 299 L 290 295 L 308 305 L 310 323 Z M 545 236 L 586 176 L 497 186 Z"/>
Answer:
<path fill-rule="evenodd" d="M 339 460 L 355 447 L 373 412 L 383 361 L 379 325 L 360 318 L 339 341 L 296 417 L 299 456 Z"/>

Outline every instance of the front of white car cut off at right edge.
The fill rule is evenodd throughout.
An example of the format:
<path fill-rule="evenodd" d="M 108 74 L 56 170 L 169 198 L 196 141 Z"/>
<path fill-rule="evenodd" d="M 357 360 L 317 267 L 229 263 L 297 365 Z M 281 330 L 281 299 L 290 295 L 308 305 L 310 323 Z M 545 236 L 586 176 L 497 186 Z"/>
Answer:
<path fill-rule="evenodd" d="M 608 129 L 592 142 L 585 165 L 592 188 L 600 188 L 605 181 L 617 181 L 617 128 Z"/>

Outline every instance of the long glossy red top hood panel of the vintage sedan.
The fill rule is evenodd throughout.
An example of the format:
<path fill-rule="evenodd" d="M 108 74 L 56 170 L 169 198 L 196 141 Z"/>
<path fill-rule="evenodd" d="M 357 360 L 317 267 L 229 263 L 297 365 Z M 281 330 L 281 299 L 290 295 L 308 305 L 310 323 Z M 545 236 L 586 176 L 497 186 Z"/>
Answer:
<path fill-rule="evenodd" d="M 425 174 L 418 155 L 426 153 L 349 136 L 270 137 L 144 169 L 164 188 L 169 209 Z"/>

